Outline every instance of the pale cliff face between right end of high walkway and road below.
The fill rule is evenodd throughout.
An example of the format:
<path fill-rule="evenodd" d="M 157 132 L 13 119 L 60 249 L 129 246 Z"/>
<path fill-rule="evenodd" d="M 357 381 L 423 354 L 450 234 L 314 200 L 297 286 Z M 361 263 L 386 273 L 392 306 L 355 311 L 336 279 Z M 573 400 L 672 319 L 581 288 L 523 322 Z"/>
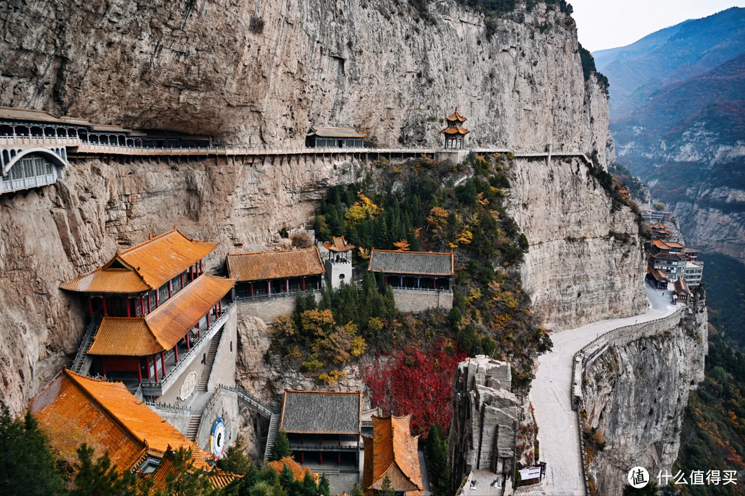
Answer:
<path fill-rule="evenodd" d="M 580 159 L 514 160 L 508 212 L 530 244 L 520 266 L 533 312 L 574 328 L 647 308 L 635 215 L 612 205 Z"/>

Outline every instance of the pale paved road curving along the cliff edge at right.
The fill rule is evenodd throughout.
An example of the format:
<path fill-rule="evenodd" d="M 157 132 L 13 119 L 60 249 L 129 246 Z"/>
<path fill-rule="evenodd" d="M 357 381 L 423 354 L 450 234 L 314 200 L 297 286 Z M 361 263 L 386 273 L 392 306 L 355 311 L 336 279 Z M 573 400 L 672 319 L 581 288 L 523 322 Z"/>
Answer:
<path fill-rule="evenodd" d="M 646 314 L 624 319 L 602 320 L 551 335 L 554 349 L 539 357 L 536 378 L 530 388 L 540 458 L 546 462 L 544 485 L 522 495 L 585 495 L 580 454 L 577 413 L 571 409 L 571 374 L 574 354 L 600 334 L 638 322 L 648 322 L 672 314 L 670 291 L 655 290 L 647 284 L 650 309 Z"/>

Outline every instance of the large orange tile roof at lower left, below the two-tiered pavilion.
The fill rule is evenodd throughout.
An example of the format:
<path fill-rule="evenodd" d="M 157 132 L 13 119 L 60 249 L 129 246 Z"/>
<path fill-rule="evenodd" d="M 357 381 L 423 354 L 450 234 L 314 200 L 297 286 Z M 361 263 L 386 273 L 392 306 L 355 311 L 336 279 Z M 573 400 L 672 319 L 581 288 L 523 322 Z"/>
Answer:
<path fill-rule="evenodd" d="M 98 455 L 108 451 L 112 463 L 124 471 L 133 468 L 143 450 L 162 456 L 168 446 L 193 445 L 123 383 L 88 378 L 67 369 L 34 396 L 30 408 L 66 460 L 75 461 L 75 450 L 86 442 Z"/>

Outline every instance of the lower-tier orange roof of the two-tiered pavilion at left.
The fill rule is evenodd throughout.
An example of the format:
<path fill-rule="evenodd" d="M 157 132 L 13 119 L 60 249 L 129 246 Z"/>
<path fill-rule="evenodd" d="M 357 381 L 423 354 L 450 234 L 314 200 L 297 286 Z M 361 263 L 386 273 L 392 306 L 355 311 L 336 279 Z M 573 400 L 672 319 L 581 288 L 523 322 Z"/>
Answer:
<path fill-rule="evenodd" d="M 144 357 L 171 349 L 233 284 L 202 274 L 145 317 L 104 317 L 88 354 Z"/>

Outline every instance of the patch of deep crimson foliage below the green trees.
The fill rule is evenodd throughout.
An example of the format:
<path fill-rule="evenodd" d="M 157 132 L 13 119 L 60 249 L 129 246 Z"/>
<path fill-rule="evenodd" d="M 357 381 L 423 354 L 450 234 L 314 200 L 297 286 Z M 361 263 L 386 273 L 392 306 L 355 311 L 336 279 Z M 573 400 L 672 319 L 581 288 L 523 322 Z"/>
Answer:
<path fill-rule="evenodd" d="M 442 341 L 425 351 L 404 349 L 385 360 L 378 357 L 364 370 L 364 381 L 373 405 L 384 415 L 411 415 L 413 434 L 426 435 L 434 424 L 447 431 L 453 416 L 453 375 L 465 357 Z"/>

